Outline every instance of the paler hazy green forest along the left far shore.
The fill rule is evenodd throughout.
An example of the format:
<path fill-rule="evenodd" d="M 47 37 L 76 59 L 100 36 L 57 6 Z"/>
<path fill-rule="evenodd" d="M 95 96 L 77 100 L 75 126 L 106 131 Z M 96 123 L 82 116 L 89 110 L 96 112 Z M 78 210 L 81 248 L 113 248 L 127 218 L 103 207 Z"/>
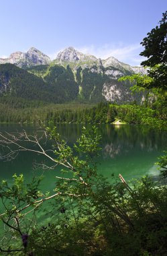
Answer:
<path fill-rule="evenodd" d="M 39 123 L 52 119 L 55 122 L 75 123 L 73 115 L 82 113 L 82 109 L 91 108 L 89 104 L 48 104 L 36 100 L 15 97 L 0 98 L 0 123 Z M 69 113 L 72 115 L 69 116 Z M 69 117 L 67 119 L 67 117 Z"/>

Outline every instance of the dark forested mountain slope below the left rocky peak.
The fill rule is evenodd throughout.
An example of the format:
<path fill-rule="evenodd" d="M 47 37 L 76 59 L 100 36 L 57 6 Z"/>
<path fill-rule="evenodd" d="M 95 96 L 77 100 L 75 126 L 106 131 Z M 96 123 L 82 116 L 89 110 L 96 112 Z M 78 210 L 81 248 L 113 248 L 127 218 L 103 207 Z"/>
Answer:
<path fill-rule="evenodd" d="M 40 66 L 42 67 L 42 66 Z M 66 74 L 66 69 L 63 70 Z M 62 73 L 63 73 L 62 72 Z M 67 74 L 67 76 L 69 76 Z M 63 79 L 64 81 L 64 79 Z M 62 80 L 61 80 L 62 82 Z M 60 82 L 55 86 L 50 81 L 44 81 L 24 69 L 13 64 L 0 65 L 0 94 L 1 96 L 13 96 L 29 100 L 42 100 L 45 102 L 63 103 L 76 98 L 78 88 L 74 88 L 74 80 L 61 86 Z"/>

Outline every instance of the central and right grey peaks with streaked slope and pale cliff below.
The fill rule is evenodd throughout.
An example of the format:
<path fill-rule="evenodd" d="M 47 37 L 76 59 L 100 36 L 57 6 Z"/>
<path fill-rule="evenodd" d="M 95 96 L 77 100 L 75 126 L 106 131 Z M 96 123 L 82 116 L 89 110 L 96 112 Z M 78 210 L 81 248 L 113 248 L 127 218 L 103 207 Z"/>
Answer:
<path fill-rule="evenodd" d="M 79 98 L 93 102 L 107 100 L 117 103 L 141 100 L 141 94 L 131 94 L 131 85 L 128 82 L 117 80 L 123 75 L 146 74 L 144 67 L 131 67 L 114 57 L 97 59 L 93 55 L 80 53 L 73 47 L 58 53 L 53 63 L 64 67 L 68 65 L 72 69 L 79 86 Z"/>

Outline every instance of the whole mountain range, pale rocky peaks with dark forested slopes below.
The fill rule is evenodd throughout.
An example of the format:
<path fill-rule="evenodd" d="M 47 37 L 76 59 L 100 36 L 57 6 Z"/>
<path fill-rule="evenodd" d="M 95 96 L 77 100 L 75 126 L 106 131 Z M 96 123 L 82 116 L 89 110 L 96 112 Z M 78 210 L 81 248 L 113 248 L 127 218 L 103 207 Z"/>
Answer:
<path fill-rule="evenodd" d="M 68 47 L 51 61 L 32 47 L 27 53 L 13 53 L 8 59 L 0 59 L 0 63 L 5 61 L 18 67 L 0 65 L 1 95 L 54 103 L 74 100 L 91 103 L 107 100 L 119 104 L 133 100 L 142 102 L 142 94 L 131 94 L 131 84 L 118 82 L 118 79 L 123 75 L 144 74 L 146 69 L 131 67 L 114 57 L 97 59 Z"/>

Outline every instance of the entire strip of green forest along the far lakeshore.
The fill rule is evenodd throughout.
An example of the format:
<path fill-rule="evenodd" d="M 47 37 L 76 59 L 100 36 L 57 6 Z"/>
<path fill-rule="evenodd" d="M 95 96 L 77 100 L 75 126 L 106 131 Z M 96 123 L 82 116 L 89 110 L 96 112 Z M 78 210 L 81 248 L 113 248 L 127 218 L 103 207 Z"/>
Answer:
<path fill-rule="evenodd" d="M 108 123 L 119 120 L 127 124 L 166 125 L 164 108 L 136 104 L 46 104 L 20 98 L 1 98 L 1 123 Z"/>

